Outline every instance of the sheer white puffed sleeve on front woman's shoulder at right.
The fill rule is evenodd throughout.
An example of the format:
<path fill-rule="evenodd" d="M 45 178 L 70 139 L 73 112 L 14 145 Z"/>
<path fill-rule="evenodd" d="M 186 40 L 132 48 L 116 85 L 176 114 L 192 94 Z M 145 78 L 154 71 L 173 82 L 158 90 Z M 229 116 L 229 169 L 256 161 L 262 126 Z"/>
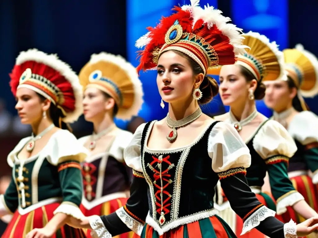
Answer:
<path fill-rule="evenodd" d="M 209 141 L 208 153 L 212 159 L 214 172 L 251 165 L 250 150 L 243 142 L 236 129 L 225 122 L 218 122 L 212 128 Z"/>

